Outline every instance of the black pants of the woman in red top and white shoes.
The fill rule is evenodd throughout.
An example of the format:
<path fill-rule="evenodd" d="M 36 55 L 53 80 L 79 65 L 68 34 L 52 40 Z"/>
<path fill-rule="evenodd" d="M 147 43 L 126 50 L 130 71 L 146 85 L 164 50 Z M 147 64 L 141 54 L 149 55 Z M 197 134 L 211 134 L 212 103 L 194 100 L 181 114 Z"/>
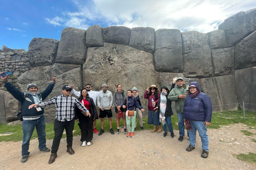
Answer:
<path fill-rule="evenodd" d="M 90 142 L 93 138 L 92 118 L 89 116 L 79 117 L 79 128 L 81 129 L 81 142 Z"/>

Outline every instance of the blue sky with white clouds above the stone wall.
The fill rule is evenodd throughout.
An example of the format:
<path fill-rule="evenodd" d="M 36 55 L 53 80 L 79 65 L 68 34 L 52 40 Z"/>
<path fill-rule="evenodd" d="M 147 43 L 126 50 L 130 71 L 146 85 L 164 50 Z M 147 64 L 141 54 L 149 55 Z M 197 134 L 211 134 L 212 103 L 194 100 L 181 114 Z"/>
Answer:
<path fill-rule="evenodd" d="M 86 30 L 94 24 L 206 33 L 229 16 L 255 7 L 255 0 L 0 0 L 0 48 L 28 50 L 35 37 L 60 40 L 66 27 Z"/>

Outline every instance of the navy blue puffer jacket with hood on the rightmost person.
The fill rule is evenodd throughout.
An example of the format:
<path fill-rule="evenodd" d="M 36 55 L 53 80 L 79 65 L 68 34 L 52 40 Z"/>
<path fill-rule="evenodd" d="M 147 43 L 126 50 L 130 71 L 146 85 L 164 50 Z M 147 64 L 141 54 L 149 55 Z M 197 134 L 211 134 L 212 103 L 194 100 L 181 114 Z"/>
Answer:
<path fill-rule="evenodd" d="M 189 86 L 195 85 L 199 94 L 191 97 L 190 92 L 184 103 L 184 118 L 189 121 L 206 121 L 212 120 L 212 103 L 209 96 L 201 92 L 197 82 L 191 82 Z"/>

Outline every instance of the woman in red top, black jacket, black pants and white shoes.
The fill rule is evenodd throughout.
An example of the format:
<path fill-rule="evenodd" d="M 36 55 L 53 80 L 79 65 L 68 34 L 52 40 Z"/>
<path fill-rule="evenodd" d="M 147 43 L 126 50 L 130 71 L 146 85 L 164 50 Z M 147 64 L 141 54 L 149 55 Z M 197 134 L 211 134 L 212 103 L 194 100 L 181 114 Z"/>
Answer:
<path fill-rule="evenodd" d="M 87 94 L 87 90 L 84 88 L 81 90 L 81 96 L 78 100 L 84 104 L 84 106 L 91 113 L 91 117 L 85 116 L 79 108 L 75 108 L 75 119 L 79 122 L 79 128 L 81 129 L 81 146 L 84 147 L 86 144 L 90 146 L 93 138 L 93 126 L 92 122 L 97 118 L 97 110 L 94 101 Z"/>

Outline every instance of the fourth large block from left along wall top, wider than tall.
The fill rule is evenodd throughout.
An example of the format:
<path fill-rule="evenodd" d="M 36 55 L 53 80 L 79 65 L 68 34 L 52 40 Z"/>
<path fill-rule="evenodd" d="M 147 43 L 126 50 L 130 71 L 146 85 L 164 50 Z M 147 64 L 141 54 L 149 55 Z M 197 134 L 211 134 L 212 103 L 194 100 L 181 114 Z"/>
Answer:
<path fill-rule="evenodd" d="M 123 26 L 103 28 L 103 38 L 106 43 L 129 45 L 131 29 Z"/>

